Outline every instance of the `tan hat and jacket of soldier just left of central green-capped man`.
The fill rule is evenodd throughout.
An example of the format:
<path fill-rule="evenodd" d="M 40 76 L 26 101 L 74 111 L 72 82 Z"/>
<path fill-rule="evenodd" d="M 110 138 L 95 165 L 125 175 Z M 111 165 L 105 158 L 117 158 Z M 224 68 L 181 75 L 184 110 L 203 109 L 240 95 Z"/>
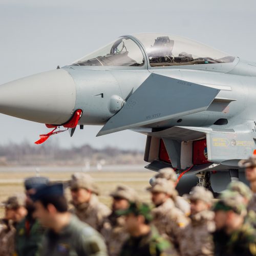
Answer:
<path fill-rule="evenodd" d="M 110 196 L 133 202 L 136 200 L 136 191 L 130 187 L 120 185 Z M 112 211 L 111 215 L 103 221 L 103 227 L 100 232 L 104 237 L 110 256 L 119 255 L 124 241 L 129 237 L 124 224 L 124 217 L 118 216 L 115 211 Z"/>

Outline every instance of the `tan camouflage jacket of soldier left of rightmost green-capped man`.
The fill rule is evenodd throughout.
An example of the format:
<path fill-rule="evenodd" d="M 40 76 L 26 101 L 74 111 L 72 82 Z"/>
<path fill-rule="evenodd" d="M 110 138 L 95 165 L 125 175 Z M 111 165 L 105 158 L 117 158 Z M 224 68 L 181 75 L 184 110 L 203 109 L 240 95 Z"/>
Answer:
<path fill-rule="evenodd" d="M 214 255 L 214 241 L 211 234 L 215 231 L 214 212 L 201 211 L 191 215 L 190 220 L 191 222 L 182 231 L 181 255 Z"/>

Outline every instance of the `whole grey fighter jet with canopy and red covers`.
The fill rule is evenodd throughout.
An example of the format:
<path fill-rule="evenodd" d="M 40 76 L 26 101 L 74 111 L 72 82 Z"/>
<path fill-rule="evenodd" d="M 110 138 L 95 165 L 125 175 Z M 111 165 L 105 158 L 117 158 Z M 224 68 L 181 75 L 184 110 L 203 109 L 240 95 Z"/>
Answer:
<path fill-rule="evenodd" d="M 184 175 L 219 192 L 244 180 L 238 161 L 256 154 L 256 63 L 175 35 L 124 35 L 71 65 L 0 86 L 0 113 L 64 126 L 103 125 L 97 136 L 147 136 L 148 169 Z M 183 192 L 182 192 L 183 191 Z"/>

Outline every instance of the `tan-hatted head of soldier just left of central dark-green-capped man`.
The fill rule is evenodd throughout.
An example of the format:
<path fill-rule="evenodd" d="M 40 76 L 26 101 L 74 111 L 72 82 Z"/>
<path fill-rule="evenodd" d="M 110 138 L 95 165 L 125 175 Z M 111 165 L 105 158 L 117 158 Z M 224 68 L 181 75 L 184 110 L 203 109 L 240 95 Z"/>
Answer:
<path fill-rule="evenodd" d="M 119 185 L 116 190 L 110 194 L 110 196 L 113 198 L 113 211 L 127 209 L 130 202 L 136 201 L 137 198 L 136 191 L 125 185 Z"/>

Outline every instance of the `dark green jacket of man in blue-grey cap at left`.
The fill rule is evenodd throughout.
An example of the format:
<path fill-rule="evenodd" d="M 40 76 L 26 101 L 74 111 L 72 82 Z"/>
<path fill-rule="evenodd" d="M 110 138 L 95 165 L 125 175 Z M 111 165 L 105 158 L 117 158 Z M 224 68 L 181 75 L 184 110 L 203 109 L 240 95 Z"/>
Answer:
<path fill-rule="evenodd" d="M 16 226 L 15 251 L 18 256 L 38 255 L 45 229 L 37 220 L 26 217 Z"/>

